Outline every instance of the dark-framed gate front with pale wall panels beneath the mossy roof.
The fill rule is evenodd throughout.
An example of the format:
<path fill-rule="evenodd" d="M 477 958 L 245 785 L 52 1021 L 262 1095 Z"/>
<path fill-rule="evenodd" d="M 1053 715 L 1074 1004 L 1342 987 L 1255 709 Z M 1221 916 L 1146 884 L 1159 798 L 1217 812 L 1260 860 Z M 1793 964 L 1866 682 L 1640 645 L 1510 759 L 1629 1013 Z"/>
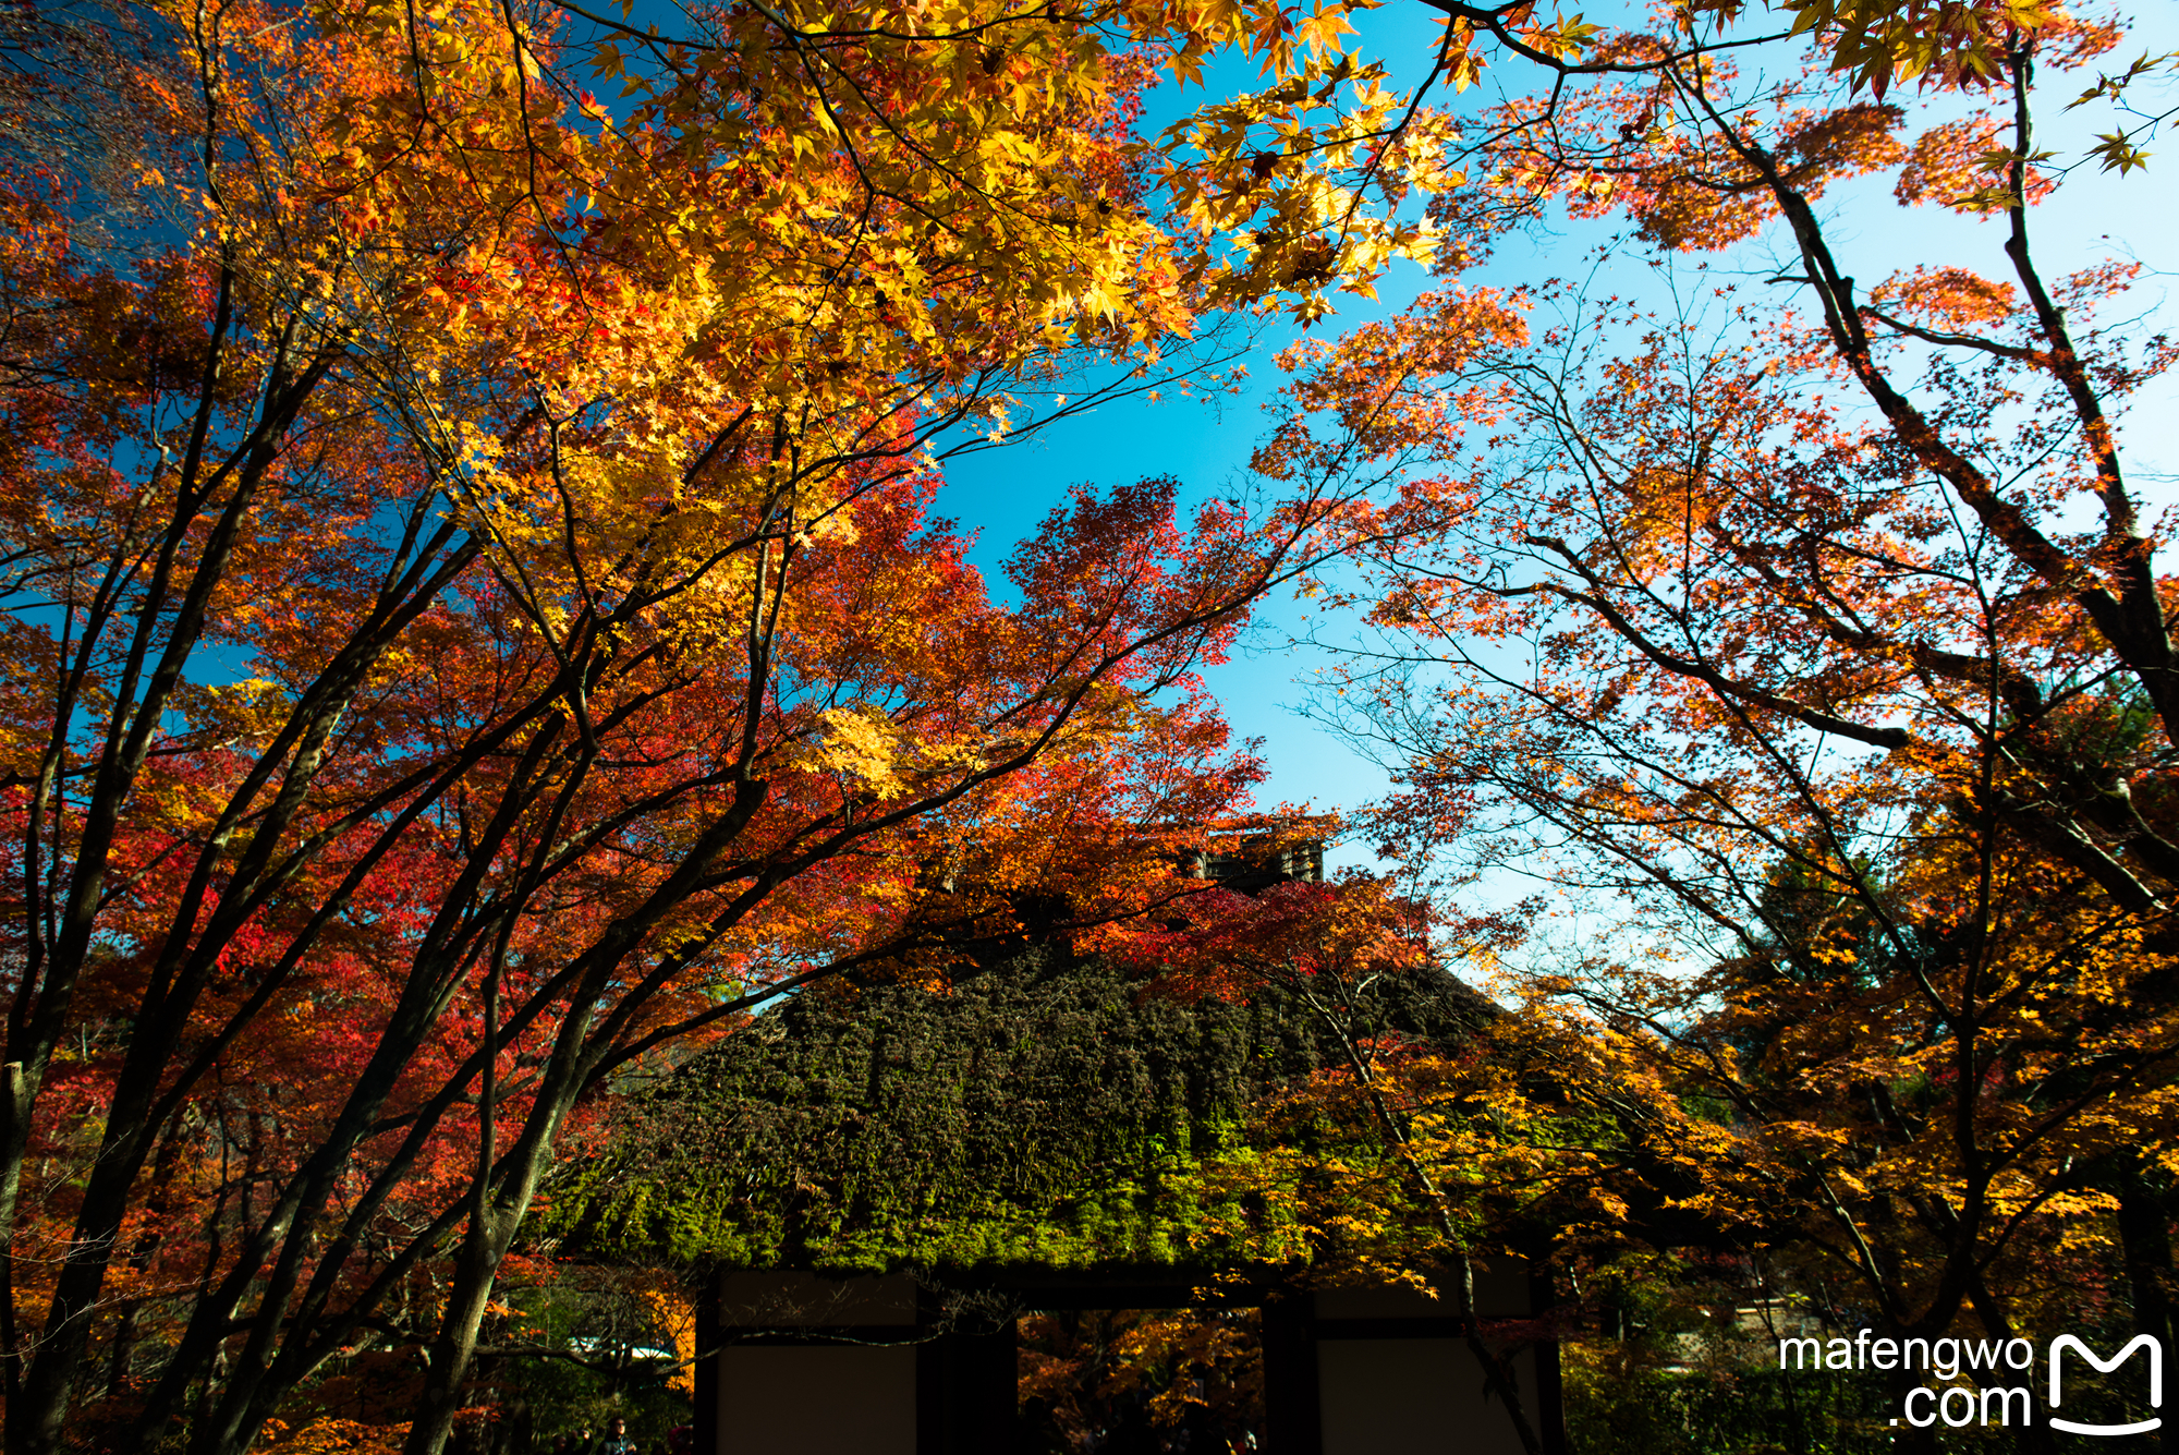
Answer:
<path fill-rule="evenodd" d="M 1525 1272 L 1480 1272 L 1477 1316 L 1525 1320 Z M 967 1307 L 963 1307 L 967 1305 Z M 1209 1294 L 1122 1276 L 926 1289 L 909 1274 L 721 1279 L 697 1372 L 704 1455 L 1022 1455 L 1020 1316 L 1061 1309 L 1259 1309 L 1264 1455 L 1521 1455 L 1464 1324 L 1408 1287 Z M 1558 1350 L 1514 1355 L 1527 1418 L 1562 1451 Z M 1174 1446 L 1177 1448 L 1177 1446 Z M 1222 1455 L 1196 1451 L 1190 1455 Z"/>

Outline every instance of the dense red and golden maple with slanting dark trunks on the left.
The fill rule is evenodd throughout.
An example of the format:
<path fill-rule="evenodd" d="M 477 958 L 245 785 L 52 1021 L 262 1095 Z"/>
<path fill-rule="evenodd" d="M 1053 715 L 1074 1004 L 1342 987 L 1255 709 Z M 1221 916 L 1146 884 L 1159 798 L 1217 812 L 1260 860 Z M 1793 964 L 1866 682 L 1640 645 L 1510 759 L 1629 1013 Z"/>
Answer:
<path fill-rule="evenodd" d="M 933 501 L 1423 248 L 1392 98 L 1273 4 L 4 24 L 7 1444 L 421 1346 L 436 1451 L 617 1076 L 1246 791 L 1194 671 L 1338 499 L 1083 490 L 996 595 Z"/>

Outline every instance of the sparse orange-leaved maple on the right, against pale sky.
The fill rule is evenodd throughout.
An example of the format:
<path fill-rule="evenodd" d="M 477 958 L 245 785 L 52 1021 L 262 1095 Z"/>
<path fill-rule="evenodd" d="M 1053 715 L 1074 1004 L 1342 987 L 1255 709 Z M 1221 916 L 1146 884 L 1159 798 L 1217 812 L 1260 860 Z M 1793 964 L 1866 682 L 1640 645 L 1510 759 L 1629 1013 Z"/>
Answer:
<path fill-rule="evenodd" d="M 1399 765 L 1395 849 L 1617 897 L 1534 985 L 1711 1109 L 1667 1117 L 1682 1196 L 1883 1329 L 2040 1331 L 2068 1259 L 2166 1246 L 2179 1165 L 2179 677 L 2125 449 L 2172 349 L 2138 264 L 2037 244 L 2140 166 L 2166 63 L 2031 7 L 1440 9 L 1456 78 L 1523 76 L 1436 122 L 1445 285 L 1294 351 L 1259 455 L 1381 490 L 1327 712 Z M 1885 183 L 1987 257 L 1915 257 Z M 1571 281 L 1462 279 L 1569 216 L 1623 229 Z"/>

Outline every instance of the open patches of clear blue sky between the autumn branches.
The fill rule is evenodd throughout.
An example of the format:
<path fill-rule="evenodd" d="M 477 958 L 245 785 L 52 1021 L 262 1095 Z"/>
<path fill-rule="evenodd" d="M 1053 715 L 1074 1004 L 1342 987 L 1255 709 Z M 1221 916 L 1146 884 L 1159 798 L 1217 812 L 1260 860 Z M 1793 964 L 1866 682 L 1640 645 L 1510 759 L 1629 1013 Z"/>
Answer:
<path fill-rule="evenodd" d="M 2114 54 L 2105 61 L 2125 65 L 2142 46 L 2151 50 L 2179 48 L 2179 17 L 2172 9 L 2151 4 L 2148 24 L 2135 30 L 2138 39 L 2125 57 Z M 1604 7 L 1593 9 L 1593 17 L 1604 13 Z M 1360 41 L 1362 52 L 1388 57 L 1399 83 L 1419 81 L 1427 72 L 1436 37 L 1434 13 L 1421 4 L 1395 2 L 1366 20 L 1371 24 Z M 1506 72 L 1506 78 L 1508 83 L 1519 81 L 1512 70 Z M 1251 83 L 1253 76 L 1246 68 L 1207 76 L 1212 91 L 1240 89 Z M 2050 87 L 2046 96 L 2055 89 Z M 1161 126 L 1201 100 L 1203 94 L 1190 87 L 1179 94 L 1168 89 L 1153 96 L 1148 124 Z M 2090 120 L 2087 111 L 2048 118 L 2042 133 L 2046 146 L 2059 150 L 2061 157 L 2079 155 L 2098 129 Z M 2044 216 L 2037 218 L 2037 231 L 2044 255 L 2055 257 L 2064 270 L 2114 253 L 2140 257 L 2151 266 L 2142 296 L 2164 305 L 2170 283 L 2179 277 L 2179 183 L 2175 183 L 2179 148 L 2153 146 L 2151 150 L 2162 155 L 2151 161 L 2148 174 L 2135 172 L 2131 179 L 2116 179 L 2092 176 L 2092 168 L 2077 172 L 2059 192 L 2059 203 L 2046 207 Z M 1996 253 L 2000 224 L 1955 218 L 1935 207 L 1909 213 L 1891 203 L 1889 187 L 1891 179 L 1885 176 L 1876 183 L 1835 189 L 1826 198 L 1826 209 L 1846 222 L 1837 231 L 1837 240 L 1848 250 L 1850 261 L 1854 255 L 1867 255 L 1867 264 L 1857 268 L 1857 274 L 1876 279 L 1918 261 L 1976 266 L 1983 272 L 2003 266 L 2003 255 Z M 1543 279 L 1608 235 L 1610 229 L 1599 224 L 1538 235 L 1525 246 L 1501 248 L 1480 277 L 1501 285 Z M 1761 253 L 1772 244 L 1750 246 Z M 1392 274 L 1379 283 L 1379 303 L 1342 296 L 1338 314 L 1318 322 L 1316 333 L 1336 333 L 1366 318 L 1384 316 L 1427 285 L 1429 279 L 1421 268 L 1395 264 Z M 1066 488 L 1079 481 L 1118 484 L 1146 475 L 1174 475 L 1188 497 L 1231 494 L 1231 484 L 1246 473 L 1249 453 L 1264 433 L 1264 401 L 1279 383 L 1273 355 L 1292 338 L 1292 329 L 1268 329 L 1249 359 L 1251 392 L 1242 399 L 1220 401 L 1218 409 L 1170 394 L 1159 403 L 1122 401 L 1061 423 L 1039 438 L 959 460 L 946 470 L 948 486 L 939 510 L 981 531 L 978 562 L 996 568 L 1013 542 L 1033 531 L 1037 521 L 1059 503 Z M 2135 481 L 2162 501 L 2179 499 L 2179 490 L 2172 488 L 2172 473 L 2179 470 L 2179 447 L 2175 447 L 2179 438 L 2170 427 L 2175 409 L 2179 409 L 2179 390 L 2166 388 L 2157 405 L 2135 412 L 2127 433 Z M 1305 697 L 1301 680 L 1323 660 L 1310 649 L 1290 647 L 1290 627 L 1297 619 L 1292 601 L 1268 603 L 1262 612 L 1264 625 L 1255 647 L 1235 653 L 1231 664 L 1214 669 L 1207 677 L 1235 732 L 1266 741 L 1273 771 L 1270 784 L 1262 793 L 1266 804 L 1307 799 L 1318 808 L 1358 806 L 1386 791 L 1386 773 L 1362 758 L 1344 738 L 1292 710 Z M 1371 863 L 1371 854 L 1362 845 L 1344 845 L 1331 856 L 1331 863 Z"/>

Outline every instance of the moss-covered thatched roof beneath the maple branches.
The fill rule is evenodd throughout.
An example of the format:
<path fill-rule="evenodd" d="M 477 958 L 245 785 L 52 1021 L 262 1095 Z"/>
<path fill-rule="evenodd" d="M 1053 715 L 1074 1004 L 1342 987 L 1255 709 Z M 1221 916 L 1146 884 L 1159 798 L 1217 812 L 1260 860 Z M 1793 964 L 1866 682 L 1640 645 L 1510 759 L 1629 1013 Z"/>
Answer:
<path fill-rule="evenodd" d="M 1482 1004 L 1384 978 L 1358 1028 L 1445 1043 Z M 1246 1226 L 1262 1259 L 1249 1109 L 1336 1059 L 1288 998 L 1181 1004 L 1052 952 L 950 993 L 813 989 L 645 1096 L 543 1233 L 667 1266 L 1209 1270 Z"/>

